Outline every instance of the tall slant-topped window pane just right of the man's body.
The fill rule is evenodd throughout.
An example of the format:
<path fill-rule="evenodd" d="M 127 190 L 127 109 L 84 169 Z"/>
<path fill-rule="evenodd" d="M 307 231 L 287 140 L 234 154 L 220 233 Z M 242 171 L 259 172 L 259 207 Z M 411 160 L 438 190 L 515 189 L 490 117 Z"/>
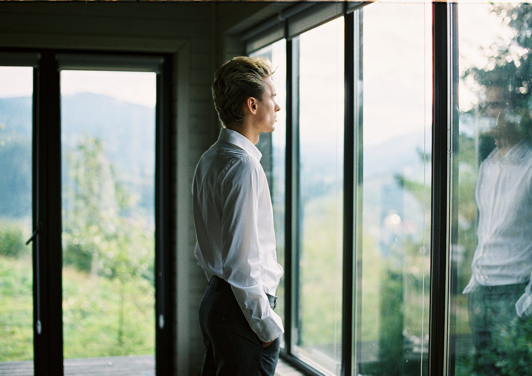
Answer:
<path fill-rule="evenodd" d="M 299 38 L 294 353 L 339 374 L 342 356 L 344 19 Z"/>

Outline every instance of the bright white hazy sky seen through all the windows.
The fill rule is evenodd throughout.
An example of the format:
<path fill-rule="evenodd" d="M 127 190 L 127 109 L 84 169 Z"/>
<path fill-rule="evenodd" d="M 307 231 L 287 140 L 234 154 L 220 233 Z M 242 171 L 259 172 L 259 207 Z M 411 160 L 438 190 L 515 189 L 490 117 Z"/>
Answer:
<path fill-rule="evenodd" d="M 481 65 L 484 57 L 479 47 L 490 45 L 497 36 L 507 37 L 508 32 L 501 26 L 500 20 L 489 14 L 488 10 L 489 5 L 483 2 L 468 1 L 459 5 L 459 46 L 460 55 L 464 57 L 462 66 Z M 363 12 L 364 141 L 375 144 L 417 131 L 423 123 L 430 125 L 431 5 L 420 2 L 378 2 L 364 7 Z M 330 43 L 337 37 L 337 30 L 322 29 L 329 31 L 321 35 L 314 33 L 312 38 L 316 46 L 323 45 L 323 42 Z M 330 62 L 333 62 L 330 56 L 316 51 L 317 68 L 323 69 L 322 65 Z M 342 65 L 338 62 L 335 64 Z M 334 80 L 334 75 L 329 81 L 323 82 L 323 88 L 320 88 L 319 76 L 323 72 L 317 70 L 315 74 L 317 83 L 313 84 L 311 92 L 306 89 L 302 96 L 317 98 L 315 103 L 309 102 L 312 108 L 320 108 L 316 115 L 327 104 L 331 107 L 329 113 L 336 117 L 338 109 L 334 102 L 338 101 L 338 93 L 327 93 L 326 90 L 329 88 L 330 91 L 330 80 Z M 62 71 L 61 75 L 63 95 L 88 91 L 148 107 L 155 105 L 155 73 Z M 0 67 L 0 97 L 30 96 L 31 80 L 31 68 Z M 467 110 L 475 97 L 463 85 L 459 94 L 460 108 Z M 315 124 L 306 121 L 305 124 L 309 131 L 310 127 L 315 128 L 319 139 L 320 127 L 327 126 L 323 124 L 326 118 L 318 121 L 319 116 L 312 115 L 309 119 L 312 118 L 317 119 Z"/>

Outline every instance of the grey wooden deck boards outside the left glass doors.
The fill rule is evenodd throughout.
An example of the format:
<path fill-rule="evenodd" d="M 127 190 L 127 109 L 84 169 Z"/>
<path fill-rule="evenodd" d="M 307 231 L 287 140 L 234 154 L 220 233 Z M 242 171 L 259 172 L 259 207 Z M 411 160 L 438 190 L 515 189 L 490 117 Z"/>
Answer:
<path fill-rule="evenodd" d="M 104 358 L 65 359 L 65 375 L 136 375 L 155 374 L 153 355 L 110 356 Z M 32 361 L 0 362 L 0 375 L 33 375 Z"/>

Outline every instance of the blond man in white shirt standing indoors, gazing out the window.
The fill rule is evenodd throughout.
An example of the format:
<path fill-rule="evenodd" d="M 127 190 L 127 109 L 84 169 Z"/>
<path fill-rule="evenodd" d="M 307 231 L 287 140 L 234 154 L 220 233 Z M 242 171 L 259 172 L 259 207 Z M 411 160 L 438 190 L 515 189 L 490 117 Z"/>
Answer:
<path fill-rule="evenodd" d="M 273 309 L 277 263 L 268 182 L 255 147 L 275 129 L 271 63 L 235 57 L 214 74 L 223 128 L 193 181 L 195 256 L 209 286 L 200 304 L 206 347 L 202 375 L 273 375 L 282 322 Z"/>

